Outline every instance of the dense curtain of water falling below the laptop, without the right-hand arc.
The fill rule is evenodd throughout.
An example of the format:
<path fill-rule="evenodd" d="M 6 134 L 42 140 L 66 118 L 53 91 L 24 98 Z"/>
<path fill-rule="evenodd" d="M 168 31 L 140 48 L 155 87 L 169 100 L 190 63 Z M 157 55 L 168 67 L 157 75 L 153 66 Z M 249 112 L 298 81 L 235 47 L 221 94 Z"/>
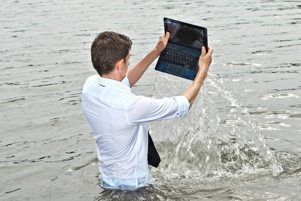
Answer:
<path fill-rule="evenodd" d="M 182 78 L 157 74 L 154 96 L 182 95 L 190 84 Z M 163 168 L 185 175 L 207 175 L 221 168 L 215 135 L 220 119 L 207 93 L 206 88 L 201 89 L 185 118 L 150 124 L 150 134 L 160 141 L 158 149 L 164 154 Z"/>

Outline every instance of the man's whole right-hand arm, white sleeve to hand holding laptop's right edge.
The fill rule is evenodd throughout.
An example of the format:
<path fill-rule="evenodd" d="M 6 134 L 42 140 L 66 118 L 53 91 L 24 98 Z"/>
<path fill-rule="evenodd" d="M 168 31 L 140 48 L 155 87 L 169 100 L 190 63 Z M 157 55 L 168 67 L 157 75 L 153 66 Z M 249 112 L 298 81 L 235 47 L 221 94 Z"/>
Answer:
<path fill-rule="evenodd" d="M 143 122 L 184 117 L 193 105 L 207 77 L 213 52 L 212 48 L 208 47 L 208 49 L 209 52 L 206 53 L 205 47 L 202 47 L 202 55 L 199 59 L 199 72 L 183 96 L 163 99 L 136 96 L 127 108 L 129 123 L 135 125 Z"/>

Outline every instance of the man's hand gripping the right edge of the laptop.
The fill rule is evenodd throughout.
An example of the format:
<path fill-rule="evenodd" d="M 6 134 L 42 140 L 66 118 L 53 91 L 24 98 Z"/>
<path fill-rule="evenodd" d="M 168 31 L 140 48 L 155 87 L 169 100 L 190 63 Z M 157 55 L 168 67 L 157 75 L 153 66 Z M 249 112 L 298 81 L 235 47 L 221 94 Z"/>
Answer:
<path fill-rule="evenodd" d="M 205 47 L 204 46 L 202 47 L 202 54 L 199 59 L 199 72 L 197 76 L 202 76 L 203 79 L 207 77 L 207 72 L 212 62 L 212 53 L 213 53 L 213 49 L 211 47 L 208 46 L 207 53 Z"/>

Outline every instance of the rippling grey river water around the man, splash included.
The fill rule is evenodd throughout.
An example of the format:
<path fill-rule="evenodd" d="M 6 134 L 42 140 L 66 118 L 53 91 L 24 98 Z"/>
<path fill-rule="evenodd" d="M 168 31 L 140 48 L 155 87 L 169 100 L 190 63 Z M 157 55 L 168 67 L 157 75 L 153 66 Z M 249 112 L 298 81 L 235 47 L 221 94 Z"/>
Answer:
<path fill-rule="evenodd" d="M 1 1 L 0 14 L 0 200 L 301 200 L 300 1 Z M 129 36 L 132 65 L 164 17 L 208 29 L 208 78 L 186 118 L 150 124 L 155 184 L 104 190 L 81 109 L 91 43 Z M 155 64 L 133 93 L 191 84 Z"/>

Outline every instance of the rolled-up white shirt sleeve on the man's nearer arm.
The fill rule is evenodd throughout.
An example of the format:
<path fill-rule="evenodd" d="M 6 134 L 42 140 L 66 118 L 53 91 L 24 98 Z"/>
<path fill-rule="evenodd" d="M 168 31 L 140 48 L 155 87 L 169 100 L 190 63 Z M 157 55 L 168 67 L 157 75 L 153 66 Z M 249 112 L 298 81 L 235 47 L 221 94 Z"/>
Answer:
<path fill-rule="evenodd" d="M 189 110 L 185 96 L 155 99 L 136 96 L 127 108 L 130 125 L 149 121 L 158 121 L 184 117 Z"/>

